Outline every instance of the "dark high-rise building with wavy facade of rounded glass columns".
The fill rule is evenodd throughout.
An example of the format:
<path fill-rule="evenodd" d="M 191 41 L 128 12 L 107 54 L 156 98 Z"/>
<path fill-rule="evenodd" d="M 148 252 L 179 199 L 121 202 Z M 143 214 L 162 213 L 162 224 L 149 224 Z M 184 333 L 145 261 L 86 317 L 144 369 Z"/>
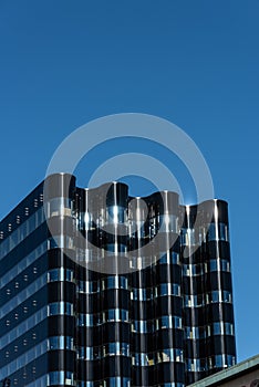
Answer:
<path fill-rule="evenodd" d="M 225 201 L 56 174 L 0 239 L 2 386 L 185 387 L 235 364 Z"/>

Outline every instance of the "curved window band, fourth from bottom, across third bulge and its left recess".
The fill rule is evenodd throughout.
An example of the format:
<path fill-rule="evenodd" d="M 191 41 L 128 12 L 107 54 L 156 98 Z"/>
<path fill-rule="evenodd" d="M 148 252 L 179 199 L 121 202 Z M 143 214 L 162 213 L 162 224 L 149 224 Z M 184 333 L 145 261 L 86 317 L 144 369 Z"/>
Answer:
<path fill-rule="evenodd" d="M 180 296 L 180 285 L 176 283 L 162 283 L 154 287 L 133 287 L 131 299 L 136 301 L 154 300 L 164 295 Z"/>

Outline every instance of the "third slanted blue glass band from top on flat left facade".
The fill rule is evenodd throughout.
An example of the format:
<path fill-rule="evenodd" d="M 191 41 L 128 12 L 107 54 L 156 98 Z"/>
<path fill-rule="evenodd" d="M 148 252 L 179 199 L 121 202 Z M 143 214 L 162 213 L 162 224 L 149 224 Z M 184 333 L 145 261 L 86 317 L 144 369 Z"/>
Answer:
<path fill-rule="evenodd" d="M 13 311 L 14 307 L 19 306 L 27 299 L 31 297 L 35 292 L 42 289 L 46 284 L 46 273 L 41 275 L 39 279 L 33 281 L 29 286 L 23 289 L 20 293 L 15 294 L 10 301 L 8 301 L 0 308 L 0 318 L 7 315 L 9 312 Z"/>

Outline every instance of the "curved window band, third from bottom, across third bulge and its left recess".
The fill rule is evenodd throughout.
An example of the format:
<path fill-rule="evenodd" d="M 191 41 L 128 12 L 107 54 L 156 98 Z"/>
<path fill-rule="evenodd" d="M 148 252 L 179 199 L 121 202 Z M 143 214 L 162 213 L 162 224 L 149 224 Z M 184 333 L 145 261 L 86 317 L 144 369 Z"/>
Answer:
<path fill-rule="evenodd" d="M 182 330 L 182 317 L 165 315 L 155 320 L 135 320 L 132 322 L 132 332 L 154 333 L 159 330 Z"/>

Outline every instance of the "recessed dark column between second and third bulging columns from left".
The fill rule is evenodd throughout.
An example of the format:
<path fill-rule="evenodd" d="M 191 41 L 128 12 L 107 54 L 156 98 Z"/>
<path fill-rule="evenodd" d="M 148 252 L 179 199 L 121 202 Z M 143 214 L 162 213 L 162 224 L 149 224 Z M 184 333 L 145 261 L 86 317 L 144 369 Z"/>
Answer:
<path fill-rule="evenodd" d="M 132 383 L 133 386 L 155 384 L 154 359 L 154 286 L 151 249 L 148 254 L 142 249 L 151 241 L 148 202 L 141 198 L 132 199 L 130 216 L 132 234 L 131 274 L 131 321 L 132 321 Z M 148 262 L 149 261 L 149 265 Z M 147 265 L 147 266 L 146 266 Z"/>

